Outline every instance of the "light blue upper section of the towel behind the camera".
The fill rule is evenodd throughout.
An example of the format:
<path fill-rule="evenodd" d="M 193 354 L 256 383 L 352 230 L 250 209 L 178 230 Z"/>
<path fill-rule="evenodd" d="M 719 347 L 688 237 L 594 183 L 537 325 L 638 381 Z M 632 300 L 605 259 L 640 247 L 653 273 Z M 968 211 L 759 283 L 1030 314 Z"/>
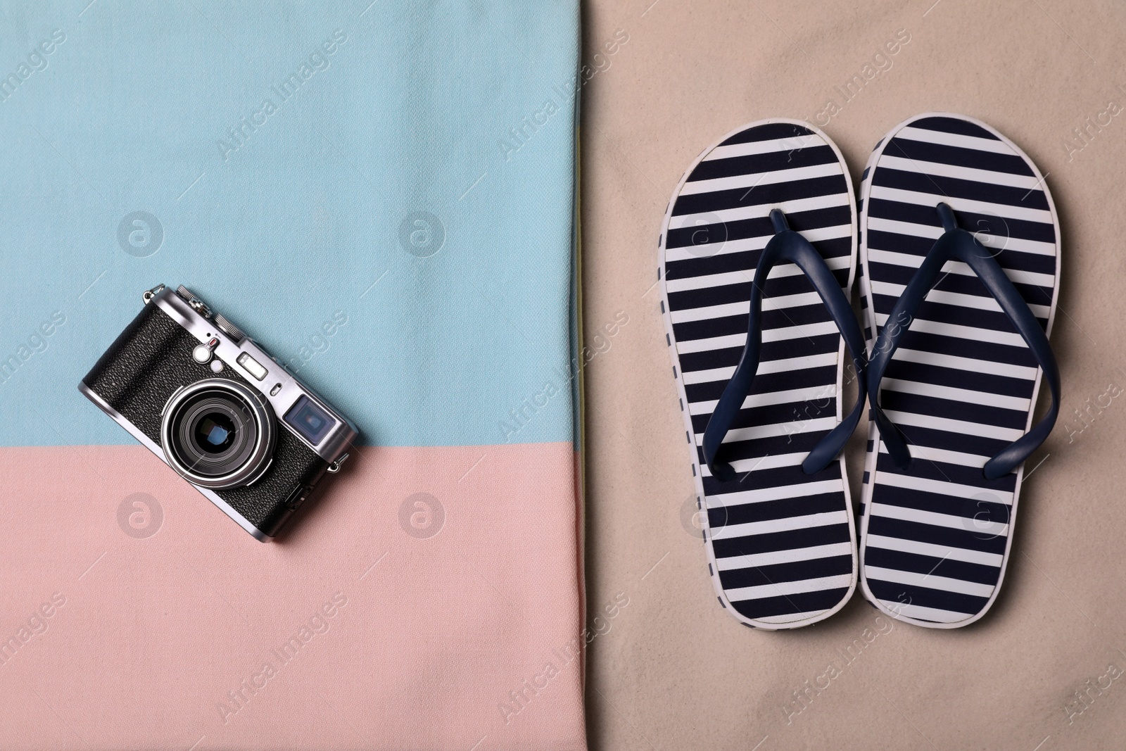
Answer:
<path fill-rule="evenodd" d="M 158 283 L 367 444 L 575 439 L 575 2 L 0 14 L 0 446 L 132 442 L 75 386 Z"/>

